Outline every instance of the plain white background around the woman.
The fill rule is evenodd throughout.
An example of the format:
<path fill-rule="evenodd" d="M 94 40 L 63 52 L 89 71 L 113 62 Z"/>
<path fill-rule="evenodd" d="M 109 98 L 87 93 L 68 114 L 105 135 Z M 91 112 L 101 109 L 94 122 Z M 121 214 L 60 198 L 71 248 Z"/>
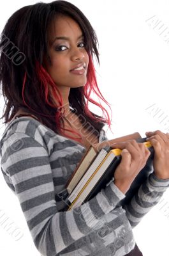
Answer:
<path fill-rule="evenodd" d="M 114 134 L 108 131 L 108 138 L 135 131 L 142 137 L 145 131 L 168 132 L 169 1 L 70 2 L 84 12 L 98 35 L 101 62 L 100 67 L 96 66 L 98 86 L 113 112 Z M 3 1 L 0 30 L 13 12 L 34 3 L 36 1 Z M 2 115 L 3 97 L 0 102 Z M 1 136 L 2 120 L 0 126 Z M 8 224 L 13 222 L 20 236 L 23 234 L 16 241 L 17 231 L 12 236 L 0 225 L 0 254 L 38 256 L 40 253 L 34 246 L 18 200 L 0 175 L 0 216 L 8 219 Z M 161 202 L 133 229 L 144 256 L 169 255 L 168 190 Z"/>

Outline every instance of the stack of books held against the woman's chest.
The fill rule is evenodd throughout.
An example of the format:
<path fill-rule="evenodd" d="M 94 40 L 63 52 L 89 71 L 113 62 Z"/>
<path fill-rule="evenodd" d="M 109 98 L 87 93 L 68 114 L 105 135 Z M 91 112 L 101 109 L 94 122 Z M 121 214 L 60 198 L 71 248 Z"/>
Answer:
<path fill-rule="evenodd" d="M 126 197 L 119 203 L 119 205 L 128 204 L 129 200 L 131 200 L 133 195 L 135 195 L 136 191 L 140 188 L 140 185 L 147 179 L 150 173 L 153 172 L 152 160 L 154 150 L 151 143 L 146 141 L 146 138 L 141 138 L 138 132 L 111 141 L 104 141 L 99 147 L 95 147 L 94 145 L 89 147 L 66 184 L 68 195 L 66 205 L 68 206 L 68 211 L 91 200 L 101 189 L 108 186 L 108 184 L 114 180 L 115 169 L 121 161 L 121 149 L 113 149 L 111 143 L 132 139 L 136 140 L 138 143 L 144 143 L 145 147 L 149 148 L 151 151 L 151 155 L 145 167 L 138 173 L 135 180 L 133 180 L 133 183 L 126 193 Z"/>

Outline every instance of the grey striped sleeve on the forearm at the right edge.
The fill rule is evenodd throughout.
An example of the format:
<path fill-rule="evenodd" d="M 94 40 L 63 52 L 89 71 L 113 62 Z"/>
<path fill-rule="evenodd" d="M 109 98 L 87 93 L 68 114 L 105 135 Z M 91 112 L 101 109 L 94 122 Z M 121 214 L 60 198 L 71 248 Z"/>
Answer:
<path fill-rule="evenodd" d="M 154 205 L 158 204 L 167 188 L 169 188 L 169 179 L 158 179 L 154 172 L 149 175 L 129 204 L 124 205 L 126 216 L 132 228 L 136 227 L 143 216 L 145 216 Z"/>

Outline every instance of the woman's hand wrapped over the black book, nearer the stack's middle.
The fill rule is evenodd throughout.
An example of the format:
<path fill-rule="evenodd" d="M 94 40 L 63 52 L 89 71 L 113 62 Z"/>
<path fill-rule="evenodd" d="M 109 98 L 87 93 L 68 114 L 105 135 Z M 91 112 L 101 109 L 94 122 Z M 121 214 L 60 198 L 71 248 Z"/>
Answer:
<path fill-rule="evenodd" d="M 151 152 L 143 143 L 137 143 L 135 140 L 114 143 L 111 147 L 122 149 L 121 163 L 114 173 L 114 184 L 125 194 L 136 175 L 145 166 Z"/>

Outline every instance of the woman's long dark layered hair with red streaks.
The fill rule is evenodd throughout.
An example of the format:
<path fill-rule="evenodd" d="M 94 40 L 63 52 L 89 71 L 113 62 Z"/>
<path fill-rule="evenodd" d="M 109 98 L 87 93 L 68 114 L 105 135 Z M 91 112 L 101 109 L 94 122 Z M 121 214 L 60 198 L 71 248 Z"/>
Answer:
<path fill-rule="evenodd" d="M 61 94 L 43 65 L 44 56 L 47 56 L 51 64 L 48 54 L 48 31 L 59 15 L 71 17 L 78 23 L 84 34 L 85 49 L 89 55 L 87 83 L 85 86 L 70 89 L 70 106 L 76 111 L 82 124 L 84 119 L 87 120 L 85 128 L 91 131 L 94 127 L 94 133 L 99 136 L 105 124 L 110 127 L 111 120 L 108 111 L 90 97 L 91 92 L 95 93 L 110 108 L 99 91 L 92 63 L 93 56 L 99 63 L 98 38 L 87 17 L 68 1 L 40 2 L 24 6 L 7 20 L 0 38 L 0 83 L 5 102 L 0 119 L 4 118 L 3 124 L 6 124 L 18 109 L 22 109 L 35 115 L 54 132 L 61 134 Z M 52 102 L 50 92 L 57 99 L 58 105 Z M 104 117 L 89 110 L 89 101 L 101 108 Z"/>

